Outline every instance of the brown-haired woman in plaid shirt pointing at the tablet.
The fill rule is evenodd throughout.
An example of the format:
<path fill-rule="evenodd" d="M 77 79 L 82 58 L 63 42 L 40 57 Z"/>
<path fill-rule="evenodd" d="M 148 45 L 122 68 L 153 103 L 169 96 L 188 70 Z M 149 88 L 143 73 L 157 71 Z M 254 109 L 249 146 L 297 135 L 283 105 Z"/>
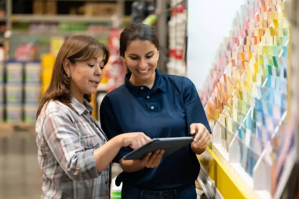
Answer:
<path fill-rule="evenodd" d="M 144 133 L 127 133 L 108 141 L 92 117 L 90 94 L 96 93 L 108 59 L 107 47 L 89 36 L 67 39 L 56 57 L 37 112 L 42 199 L 108 199 L 112 159 L 122 147 L 150 140 Z M 156 166 L 160 159 L 149 161 Z"/>

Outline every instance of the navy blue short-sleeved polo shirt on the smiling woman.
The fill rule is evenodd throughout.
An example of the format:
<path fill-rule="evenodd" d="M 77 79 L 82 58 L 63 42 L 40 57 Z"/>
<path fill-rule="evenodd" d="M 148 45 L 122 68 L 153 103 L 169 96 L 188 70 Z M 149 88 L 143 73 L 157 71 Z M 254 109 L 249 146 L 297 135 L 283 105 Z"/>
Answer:
<path fill-rule="evenodd" d="M 192 123 L 203 123 L 211 132 L 196 88 L 186 77 L 160 74 L 151 89 L 134 86 L 126 75 L 125 84 L 103 99 L 100 120 L 108 139 L 128 132 L 144 132 L 150 138 L 186 137 Z M 132 149 L 124 147 L 113 160 Z M 188 186 L 197 179 L 200 164 L 191 146 L 162 159 L 156 168 L 120 174 L 123 184 L 146 190 L 165 190 Z"/>

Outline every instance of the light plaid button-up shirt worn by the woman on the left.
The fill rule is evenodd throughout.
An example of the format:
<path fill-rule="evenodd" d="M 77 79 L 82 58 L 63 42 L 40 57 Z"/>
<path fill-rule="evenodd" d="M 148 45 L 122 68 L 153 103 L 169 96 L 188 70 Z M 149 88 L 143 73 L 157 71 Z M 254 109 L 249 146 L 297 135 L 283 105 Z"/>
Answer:
<path fill-rule="evenodd" d="M 107 138 L 86 100 L 72 98 L 71 104 L 74 110 L 50 101 L 37 119 L 42 199 L 108 199 L 111 165 L 99 174 L 93 158 Z"/>

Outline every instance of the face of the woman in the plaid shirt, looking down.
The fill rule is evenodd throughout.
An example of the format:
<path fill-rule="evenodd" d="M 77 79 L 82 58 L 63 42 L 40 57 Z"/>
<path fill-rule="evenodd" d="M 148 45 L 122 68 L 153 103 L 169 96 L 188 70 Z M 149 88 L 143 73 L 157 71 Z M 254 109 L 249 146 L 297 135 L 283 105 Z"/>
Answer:
<path fill-rule="evenodd" d="M 65 60 L 64 70 L 67 75 L 70 75 L 70 91 L 77 100 L 82 102 L 84 94 L 96 93 L 103 78 L 104 64 L 102 52 L 98 53 L 94 59 L 84 62 L 72 64 Z"/>

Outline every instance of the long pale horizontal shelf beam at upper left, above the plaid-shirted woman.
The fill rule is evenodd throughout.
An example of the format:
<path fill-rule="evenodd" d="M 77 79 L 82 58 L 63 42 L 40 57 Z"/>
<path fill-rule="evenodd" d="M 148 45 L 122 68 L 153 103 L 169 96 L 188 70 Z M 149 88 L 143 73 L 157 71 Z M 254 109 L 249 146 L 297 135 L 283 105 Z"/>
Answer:
<path fill-rule="evenodd" d="M 111 17 L 78 15 L 13 15 L 13 22 L 112 22 Z"/>

